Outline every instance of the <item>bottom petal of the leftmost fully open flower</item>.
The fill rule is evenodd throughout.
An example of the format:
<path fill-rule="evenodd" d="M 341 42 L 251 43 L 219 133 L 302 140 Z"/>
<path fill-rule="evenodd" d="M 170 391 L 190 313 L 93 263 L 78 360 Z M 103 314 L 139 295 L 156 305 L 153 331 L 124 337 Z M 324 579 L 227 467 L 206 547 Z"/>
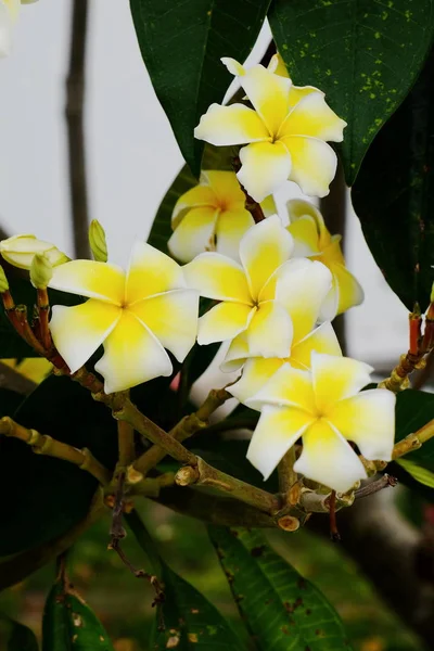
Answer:
<path fill-rule="evenodd" d="M 158 340 L 128 310 L 104 342 L 104 355 L 95 365 L 104 378 L 105 393 L 126 391 L 161 375 L 170 375 L 170 358 Z"/>

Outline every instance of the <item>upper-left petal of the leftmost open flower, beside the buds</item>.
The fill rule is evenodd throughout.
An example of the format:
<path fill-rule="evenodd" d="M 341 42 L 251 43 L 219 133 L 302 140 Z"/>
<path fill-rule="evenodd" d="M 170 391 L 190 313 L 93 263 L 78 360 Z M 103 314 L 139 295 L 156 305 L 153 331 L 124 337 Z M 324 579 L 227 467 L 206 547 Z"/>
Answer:
<path fill-rule="evenodd" d="M 49 286 L 120 306 L 125 298 L 125 272 L 108 263 L 72 260 L 54 267 Z"/>

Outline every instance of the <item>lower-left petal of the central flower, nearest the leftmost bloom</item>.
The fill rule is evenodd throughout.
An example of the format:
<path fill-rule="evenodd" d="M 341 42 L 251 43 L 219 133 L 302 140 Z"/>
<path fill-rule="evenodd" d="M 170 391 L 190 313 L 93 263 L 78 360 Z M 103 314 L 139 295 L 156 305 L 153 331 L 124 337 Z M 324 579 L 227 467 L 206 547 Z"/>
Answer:
<path fill-rule="evenodd" d="M 197 343 L 225 342 L 245 330 L 255 308 L 242 303 L 219 303 L 199 319 Z"/>

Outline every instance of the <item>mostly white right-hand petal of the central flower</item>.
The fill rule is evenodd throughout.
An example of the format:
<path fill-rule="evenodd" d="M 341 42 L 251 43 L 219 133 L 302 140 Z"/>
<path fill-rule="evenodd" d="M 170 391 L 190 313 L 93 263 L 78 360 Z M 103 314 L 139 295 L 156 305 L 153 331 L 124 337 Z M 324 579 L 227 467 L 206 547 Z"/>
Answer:
<path fill-rule="evenodd" d="M 295 258 L 283 265 L 277 277 L 276 299 L 290 315 L 294 342 L 299 342 L 318 321 L 321 305 L 332 284 L 332 275 L 321 263 Z"/>

